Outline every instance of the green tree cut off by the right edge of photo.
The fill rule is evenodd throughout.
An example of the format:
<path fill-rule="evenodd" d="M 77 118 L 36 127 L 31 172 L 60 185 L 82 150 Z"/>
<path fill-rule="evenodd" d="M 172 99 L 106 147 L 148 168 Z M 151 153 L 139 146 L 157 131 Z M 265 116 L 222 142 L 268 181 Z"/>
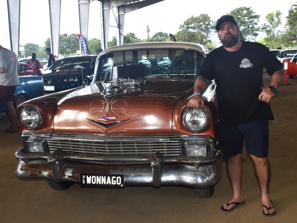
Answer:
<path fill-rule="evenodd" d="M 292 46 L 297 45 L 297 4 L 293 4 L 291 6 L 289 14 L 286 18 L 286 27 L 288 34 L 286 43 L 288 43 L 288 45 L 290 45 L 291 48 Z"/>

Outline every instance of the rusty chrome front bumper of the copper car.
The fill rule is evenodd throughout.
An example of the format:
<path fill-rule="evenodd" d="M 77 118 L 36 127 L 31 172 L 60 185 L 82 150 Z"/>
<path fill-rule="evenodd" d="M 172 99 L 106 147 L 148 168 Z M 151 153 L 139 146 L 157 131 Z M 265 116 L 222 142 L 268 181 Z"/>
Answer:
<path fill-rule="evenodd" d="M 80 173 L 124 174 L 125 185 L 177 184 L 208 187 L 222 176 L 222 154 L 207 157 L 164 156 L 157 152 L 143 156 L 116 156 L 66 153 L 59 149 L 53 153 L 24 153 L 15 170 L 20 180 L 53 179 L 56 182 L 80 182 Z"/>

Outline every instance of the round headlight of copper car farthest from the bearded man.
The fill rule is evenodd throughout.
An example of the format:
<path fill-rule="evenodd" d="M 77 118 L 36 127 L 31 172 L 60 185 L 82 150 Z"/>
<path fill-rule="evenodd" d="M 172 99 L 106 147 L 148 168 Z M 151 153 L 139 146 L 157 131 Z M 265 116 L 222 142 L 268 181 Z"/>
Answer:
<path fill-rule="evenodd" d="M 25 108 L 21 111 L 20 119 L 27 128 L 37 128 L 42 123 L 40 113 L 31 107 Z"/>

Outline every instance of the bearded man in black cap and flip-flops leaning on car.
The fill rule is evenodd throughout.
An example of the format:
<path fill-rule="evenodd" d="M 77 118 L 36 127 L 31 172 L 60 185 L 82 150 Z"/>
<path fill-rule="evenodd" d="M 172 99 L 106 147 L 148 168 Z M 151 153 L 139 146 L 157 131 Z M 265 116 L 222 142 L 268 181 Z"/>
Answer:
<path fill-rule="evenodd" d="M 269 101 L 283 77 L 283 65 L 260 43 L 238 39 L 239 27 L 230 15 L 217 20 L 216 29 L 222 46 L 211 51 L 195 82 L 188 106 L 204 106 L 201 94 L 211 80 L 217 84 L 218 118 L 223 158 L 233 196 L 221 207 L 230 212 L 245 203 L 241 188 L 243 139 L 252 157 L 261 189 L 263 215 L 276 214 L 270 200 L 271 168 L 268 161 L 268 119 L 274 119 Z M 271 82 L 263 85 L 263 67 Z"/>

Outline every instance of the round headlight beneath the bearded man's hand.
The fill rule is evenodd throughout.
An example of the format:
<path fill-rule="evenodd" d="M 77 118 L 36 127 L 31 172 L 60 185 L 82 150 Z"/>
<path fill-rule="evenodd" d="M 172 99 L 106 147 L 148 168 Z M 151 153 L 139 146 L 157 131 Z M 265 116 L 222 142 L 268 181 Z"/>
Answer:
<path fill-rule="evenodd" d="M 183 111 L 184 126 L 190 131 L 202 131 L 209 123 L 209 113 L 205 108 L 186 108 Z"/>

